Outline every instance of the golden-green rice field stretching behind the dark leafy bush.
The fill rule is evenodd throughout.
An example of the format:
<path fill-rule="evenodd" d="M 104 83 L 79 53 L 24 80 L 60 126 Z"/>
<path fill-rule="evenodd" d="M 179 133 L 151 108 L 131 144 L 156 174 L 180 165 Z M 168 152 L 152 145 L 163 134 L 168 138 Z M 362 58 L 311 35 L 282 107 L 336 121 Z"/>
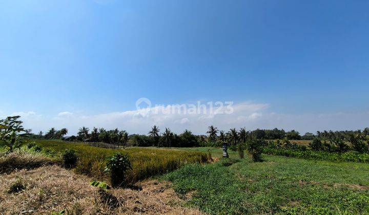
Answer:
<path fill-rule="evenodd" d="M 47 154 L 54 157 L 60 156 L 60 153 L 67 148 L 76 150 L 79 157 L 75 168 L 76 172 L 98 180 L 108 180 L 104 173 L 105 159 L 116 152 L 127 153 L 129 156 L 132 170 L 127 172 L 127 181 L 131 183 L 168 173 L 188 163 L 207 162 L 207 154 L 201 152 L 186 152 L 154 147 L 108 149 L 89 146 L 86 143 L 71 143 L 57 140 L 36 140 L 35 142 L 43 147 L 43 152 L 48 150 L 49 153 Z"/>

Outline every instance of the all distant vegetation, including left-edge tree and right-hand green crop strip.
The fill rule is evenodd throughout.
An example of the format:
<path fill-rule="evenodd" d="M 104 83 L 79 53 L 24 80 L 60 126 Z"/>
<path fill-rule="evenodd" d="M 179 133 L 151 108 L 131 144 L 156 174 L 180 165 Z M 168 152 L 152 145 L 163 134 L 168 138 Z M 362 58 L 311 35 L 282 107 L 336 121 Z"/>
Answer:
<path fill-rule="evenodd" d="M 65 141 L 81 141 L 89 142 L 92 146 L 120 148 L 124 146 L 157 146 L 157 147 L 221 147 L 227 143 L 231 150 L 238 152 L 240 158 L 244 157 L 244 151 L 247 151 L 255 161 L 261 161 L 261 153 L 285 155 L 304 158 L 328 158 L 337 160 L 336 155 L 326 156 L 324 153 L 336 153 L 337 155 L 347 152 L 353 152 L 342 155 L 339 160 L 366 162 L 365 156 L 356 154 L 369 153 L 369 128 L 363 131 L 323 131 L 305 133 L 303 136 L 299 132 L 292 130 L 285 132 L 274 128 L 273 130 L 247 131 L 245 127 L 237 130 L 231 128 L 229 132 L 219 131 L 213 125 L 208 127 L 207 135 L 194 135 L 192 132 L 185 130 L 177 135 L 170 128 L 165 128 L 160 132 L 158 126 L 154 125 L 147 135 L 133 134 L 129 135 L 126 131 L 105 130 L 104 128 L 80 127 L 77 136 L 65 137 L 68 133 L 67 128 L 61 130 L 50 130 L 43 135 L 31 134 L 30 130 L 22 127 L 22 121 L 18 120 L 19 116 L 8 117 L 0 121 L 0 138 L 1 144 L 6 146 L 8 152 L 12 152 L 14 148 L 19 148 L 27 135 L 31 139 L 60 139 Z M 19 133 L 24 134 L 19 134 Z M 291 143 L 291 140 L 309 140 L 309 147 Z M 93 144 L 91 144 L 93 143 Z M 103 143 L 103 144 L 101 144 Z M 105 144 L 105 145 L 104 145 Z M 39 146 L 33 146 L 33 150 L 41 150 Z M 309 152 L 301 153 L 306 150 Z M 310 151 L 311 150 L 311 151 Z"/>

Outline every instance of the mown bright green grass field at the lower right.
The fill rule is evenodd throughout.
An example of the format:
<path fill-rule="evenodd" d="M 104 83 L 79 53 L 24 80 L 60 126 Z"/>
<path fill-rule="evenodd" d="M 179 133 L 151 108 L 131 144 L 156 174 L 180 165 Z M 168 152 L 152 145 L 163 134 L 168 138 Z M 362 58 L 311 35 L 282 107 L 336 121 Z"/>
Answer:
<path fill-rule="evenodd" d="M 186 204 L 211 214 L 369 213 L 369 164 L 263 157 L 190 164 L 162 179 L 180 195 L 194 191 Z"/>

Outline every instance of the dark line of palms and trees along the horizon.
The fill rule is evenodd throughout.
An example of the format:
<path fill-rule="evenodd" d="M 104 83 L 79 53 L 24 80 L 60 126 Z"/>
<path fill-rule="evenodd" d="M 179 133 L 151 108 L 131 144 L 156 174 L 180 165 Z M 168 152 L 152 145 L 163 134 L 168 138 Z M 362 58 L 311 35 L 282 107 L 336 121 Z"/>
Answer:
<path fill-rule="evenodd" d="M 105 128 L 93 127 L 92 130 L 88 127 L 80 127 L 76 136 L 65 137 L 68 134 L 67 128 L 61 130 L 55 130 L 54 127 L 43 135 L 43 132 L 39 132 L 37 135 L 30 134 L 34 139 L 61 139 L 67 141 L 85 141 L 85 142 L 104 142 L 111 144 L 131 144 L 137 146 L 212 146 L 219 145 L 219 142 L 229 140 L 230 137 L 235 136 L 235 133 L 240 135 L 241 139 L 245 139 L 245 135 L 252 135 L 256 139 L 265 140 L 314 140 L 316 138 L 322 141 L 332 139 L 333 137 L 343 137 L 345 141 L 349 136 L 357 135 L 361 131 L 323 131 L 313 133 L 305 133 L 300 135 L 299 132 L 291 130 L 285 132 L 283 129 L 274 128 L 273 130 L 261 130 L 256 129 L 254 131 L 247 131 L 246 128 L 240 128 L 239 131 L 236 128 L 232 128 L 229 132 L 219 131 L 214 126 L 209 126 L 207 135 L 194 135 L 191 131 L 185 130 L 181 134 L 177 135 L 173 133 L 170 128 L 165 128 L 163 132 L 160 132 L 158 126 L 154 125 L 151 131 L 147 135 L 131 134 L 126 131 L 119 131 L 118 128 L 114 130 L 105 130 Z M 369 133 L 369 128 L 365 128 L 362 131 L 363 134 Z M 232 139 L 232 138 L 231 138 Z M 342 138 L 341 138 L 342 139 Z M 232 140 L 234 142 L 234 139 Z M 346 141 L 347 142 L 347 141 Z"/>

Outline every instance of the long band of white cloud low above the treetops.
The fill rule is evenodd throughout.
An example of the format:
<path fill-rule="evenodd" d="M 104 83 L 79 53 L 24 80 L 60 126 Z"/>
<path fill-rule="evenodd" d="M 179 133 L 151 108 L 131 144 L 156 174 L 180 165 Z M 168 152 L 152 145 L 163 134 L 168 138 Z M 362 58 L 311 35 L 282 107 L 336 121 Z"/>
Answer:
<path fill-rule="evenodd" d="M 35 112 L 17 112 L 22 116 L 24 127 L 34 132 L 47 131 L 50 127 L 68 128 L 69 135 L 75 134 L 79 127 L 105 127 L 126 130 L 129 133 L 147 134 L 151 126 L 156 124 L 162 130 L 170 127 L 173 132 L 180 133 L 189 129 L 195 134 L 204 134 L 207 127 L 214 125 L 220 130 L 232 127 L 295 129 L 301 133 L 323 130 L 356 130 L 367 127 L 369 112 L 364 113 L 331 113 L 331 114 L 280 114 L 269 111 L 270 105 L 264 103 L 242 102 L 233 105 L 232 114 L 196 114 L 157 112 L 157 107 L 150 109 L 111 112 L 97 115 L 61 112 L 57 117 L 37 115 Z M 222 110 L 225 110 L 223 107 Z M 68 116 L 68 117 L 67 117 Z"/>

